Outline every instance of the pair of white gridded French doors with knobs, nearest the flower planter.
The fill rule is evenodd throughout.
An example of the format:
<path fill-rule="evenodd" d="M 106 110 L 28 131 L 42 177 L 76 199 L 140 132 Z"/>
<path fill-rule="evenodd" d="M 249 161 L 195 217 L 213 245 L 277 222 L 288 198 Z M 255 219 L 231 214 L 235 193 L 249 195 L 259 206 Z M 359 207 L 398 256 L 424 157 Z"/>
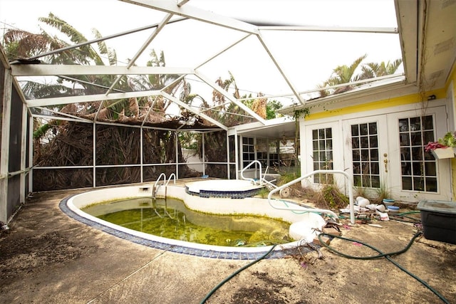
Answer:
<path fill-rule="evenodd" d="M 425 152 L 445 134 L 445 107 L 343 120 L 344 166 L 353 185 L 400 201 L 451 200 L 450 161 Z"/>

